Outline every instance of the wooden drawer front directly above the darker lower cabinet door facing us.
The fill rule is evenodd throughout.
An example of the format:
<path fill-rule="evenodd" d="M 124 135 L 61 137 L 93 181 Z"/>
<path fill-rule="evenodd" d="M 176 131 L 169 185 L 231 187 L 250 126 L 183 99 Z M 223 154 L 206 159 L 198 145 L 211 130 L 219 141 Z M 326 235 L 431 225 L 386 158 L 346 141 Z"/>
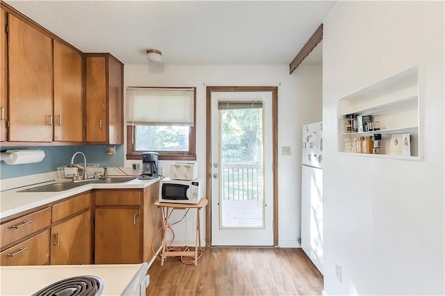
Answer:
<path fill-rule="evenodd" d="M 140 191 L 110 190 L 96 191 L 96 206 L 139 206 Z"/>

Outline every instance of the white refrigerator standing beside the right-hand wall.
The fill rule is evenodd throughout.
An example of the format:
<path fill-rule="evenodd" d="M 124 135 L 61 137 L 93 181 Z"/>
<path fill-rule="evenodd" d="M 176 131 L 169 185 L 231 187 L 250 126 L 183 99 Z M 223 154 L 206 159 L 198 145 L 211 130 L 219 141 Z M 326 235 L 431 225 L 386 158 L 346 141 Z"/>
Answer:
<path fill-rule="evenodd" d="M 323 122 L 302 133 L 301 247 L 323 274 Z"/>

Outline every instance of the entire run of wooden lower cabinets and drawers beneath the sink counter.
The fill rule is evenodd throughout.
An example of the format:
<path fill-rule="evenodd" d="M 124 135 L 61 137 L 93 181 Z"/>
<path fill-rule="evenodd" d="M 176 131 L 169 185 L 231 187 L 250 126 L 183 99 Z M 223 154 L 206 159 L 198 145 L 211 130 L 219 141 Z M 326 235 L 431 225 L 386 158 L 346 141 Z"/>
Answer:
<path fill-rule="evenodd" d="M 143 189 L 99 189 L 4 219 L 0 265 L 149 262 L 152 246 L 155 251 L 161 246 L 158 195 L 159 182 Z"/>

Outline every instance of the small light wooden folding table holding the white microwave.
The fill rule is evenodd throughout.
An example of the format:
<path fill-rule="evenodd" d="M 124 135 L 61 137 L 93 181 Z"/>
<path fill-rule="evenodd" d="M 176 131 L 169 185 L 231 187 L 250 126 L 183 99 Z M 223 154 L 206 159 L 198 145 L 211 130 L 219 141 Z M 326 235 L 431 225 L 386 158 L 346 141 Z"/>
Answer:
<path fill-rule="evenodd" d="M 201 199 L 197 204 L 174 204 L 167 202 L 156 201 L 154 204 L 161 208 L 162 217 L 162 251 L 161 251 L 161 266 L 164 265 L 165 258 L 174 256 L 190 256 L 195 258 L 195 265 L 197 265 L 197 250 L 198 247 L 201 251 L 201 232 L 200 232 L 200 209 L 207 206 L 209 202 L 207 199 Z M 164 213 L 163 208 L 165 208 L 166 213 Z M 167 229 L 168 229 L 168 217 L 172 214 L 175 209 L 186 209 L 186 208 L 196 208 L 196 240 L 195 240 L 195 251 L 181 251 L 181 252 L 168 252 L 167 250 Z"/>

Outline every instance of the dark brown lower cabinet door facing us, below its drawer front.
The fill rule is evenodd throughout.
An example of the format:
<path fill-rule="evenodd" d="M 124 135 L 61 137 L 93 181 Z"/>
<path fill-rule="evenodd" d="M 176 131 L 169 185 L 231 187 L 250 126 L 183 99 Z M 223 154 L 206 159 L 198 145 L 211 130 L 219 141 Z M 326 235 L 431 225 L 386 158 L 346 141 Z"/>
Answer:
<path fill-rule="evenodd" d="M 139 208 L 96 208 L 95 264 L 141 263 Z"/>

